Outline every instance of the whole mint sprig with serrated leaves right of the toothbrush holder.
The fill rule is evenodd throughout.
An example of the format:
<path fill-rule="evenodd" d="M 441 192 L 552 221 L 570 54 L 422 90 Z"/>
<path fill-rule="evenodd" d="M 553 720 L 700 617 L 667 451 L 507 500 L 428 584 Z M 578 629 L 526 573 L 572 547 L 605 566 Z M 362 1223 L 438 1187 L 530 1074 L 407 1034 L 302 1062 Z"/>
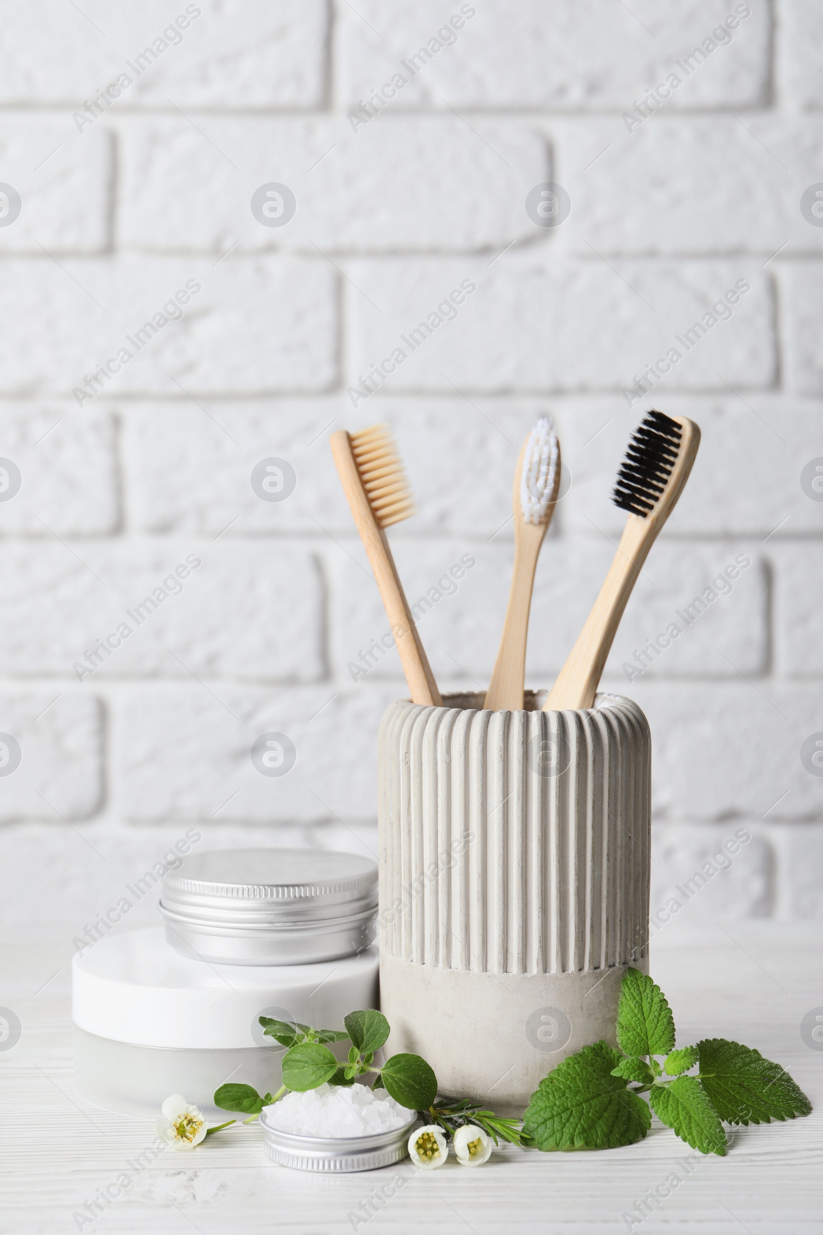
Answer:
<path fill-rule="evenodd" d="M 675 1050 L 666 997 L 628 969 L 617 1014 L 621 1051 L 584 1046 L 545 1077 L 523 1116 L 522 1141 L 540 1150 L 613 1149 L 642 1140 L 658 1119 L 701 1153 L 726 1155 L 723 1124 L 807 1115 L 812 1105 L 779 1063 L 724 1039 Z M 663 1056 L 663 1065 L 655 1056 Z M 695 1065 L 697 1076 L 686 1076 Z M 632 1087 L 631 1087 L 632 1086 Z M 644 1112 L 644 1114 L 642 1114 Z"/>

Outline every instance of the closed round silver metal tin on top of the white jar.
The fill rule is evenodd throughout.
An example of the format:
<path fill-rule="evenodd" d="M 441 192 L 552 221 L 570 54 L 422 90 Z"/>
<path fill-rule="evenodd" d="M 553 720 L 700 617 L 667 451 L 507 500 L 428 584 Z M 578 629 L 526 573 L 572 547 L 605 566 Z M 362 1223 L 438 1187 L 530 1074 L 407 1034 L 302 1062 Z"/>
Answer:
<path fill-rule="evenodd" d="M 213 850 L 163 881 L 178 952 L 216 965 L 312 965 L 354 956 L 374 935 L 378 867 L 328 850 Z"/>

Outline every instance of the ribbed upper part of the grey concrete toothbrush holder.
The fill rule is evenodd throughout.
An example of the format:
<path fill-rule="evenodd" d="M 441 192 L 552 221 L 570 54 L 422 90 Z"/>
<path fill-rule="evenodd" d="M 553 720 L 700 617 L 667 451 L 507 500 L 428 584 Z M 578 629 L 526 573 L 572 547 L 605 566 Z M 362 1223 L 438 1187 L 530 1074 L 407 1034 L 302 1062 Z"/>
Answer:
<path fill-rule="evenodd" d="M 589 711 L 444 703 L 391 704 L 380 727 L 383 948 L 491 973 L 637 963 L 650 840 L 640 709 L 618 695 Z"/>

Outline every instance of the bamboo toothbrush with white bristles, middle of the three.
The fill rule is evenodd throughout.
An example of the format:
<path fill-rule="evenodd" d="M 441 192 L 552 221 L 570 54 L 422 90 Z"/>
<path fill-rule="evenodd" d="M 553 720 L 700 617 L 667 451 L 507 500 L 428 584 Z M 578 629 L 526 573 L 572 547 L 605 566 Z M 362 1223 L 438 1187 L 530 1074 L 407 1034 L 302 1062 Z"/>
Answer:
<path fill-rule="evenodd" d="M 484 703 L 491 711 L 519 711 L 523 706 L 534 571 L 559 485 L 560 443 L 552 420 L 540 416 L 523 443 L 515 469 L 515 569 L 500 651 Z"/>

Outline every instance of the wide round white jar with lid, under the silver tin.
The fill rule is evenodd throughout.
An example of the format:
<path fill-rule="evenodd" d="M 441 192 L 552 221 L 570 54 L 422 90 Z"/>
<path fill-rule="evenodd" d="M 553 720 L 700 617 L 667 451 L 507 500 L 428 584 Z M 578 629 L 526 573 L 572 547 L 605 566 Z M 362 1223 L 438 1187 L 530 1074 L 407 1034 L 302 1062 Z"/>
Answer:
<path fill-rule="evenodd" d="M 284 1049 L 259 1016 L 343 1029 L 349 1011 L 379 1002 L 375 947 L 313 965 L 211 965 L 170 948 L 157 926 L 110 935 L 72 968 L 78 1092 L 134 1115 L 181 1093 L 213 1116 L 230 1078 L 275 1093 Z"/>

